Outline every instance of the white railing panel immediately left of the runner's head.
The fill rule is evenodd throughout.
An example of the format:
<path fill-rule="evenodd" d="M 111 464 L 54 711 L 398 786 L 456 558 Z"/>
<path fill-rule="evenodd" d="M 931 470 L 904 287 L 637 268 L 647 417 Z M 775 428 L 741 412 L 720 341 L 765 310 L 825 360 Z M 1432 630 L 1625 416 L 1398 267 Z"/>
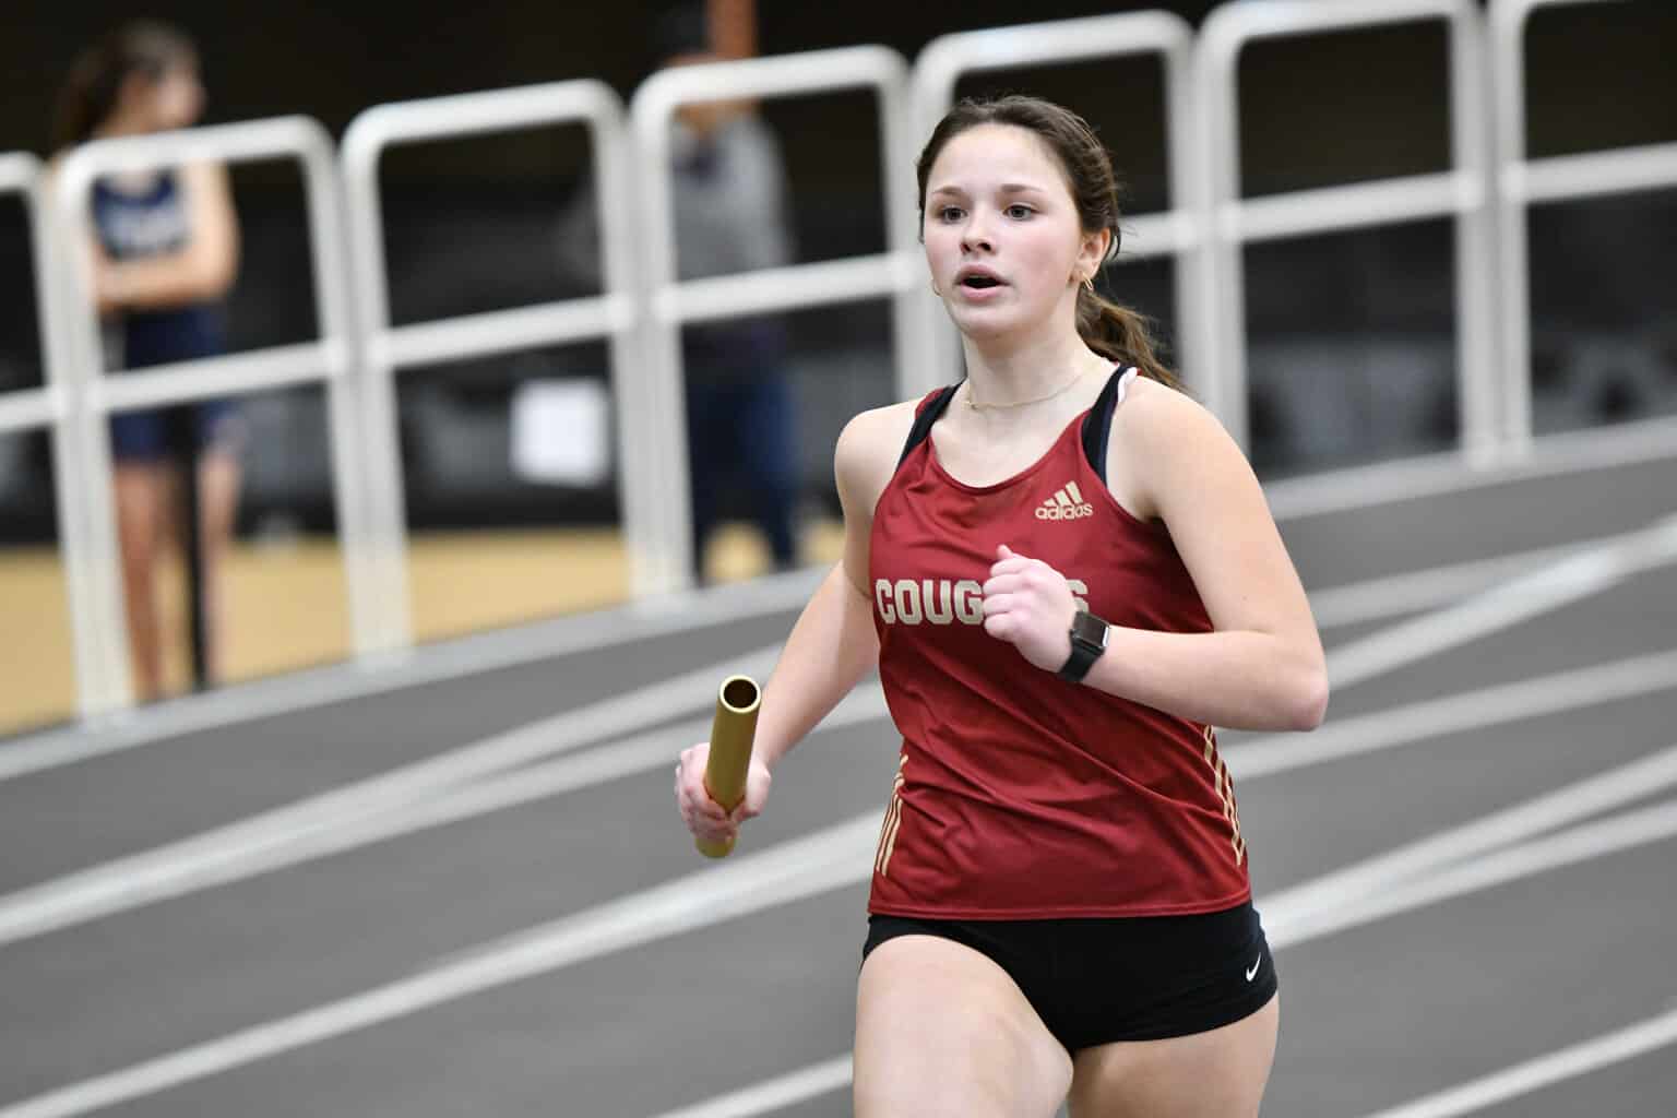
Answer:
<path fill-rule="evenodd" d="M 683 104 L 731 97 L 768 99 L 874 89 L 879 97 L 880 169 L 885 198 L 885 253 L 822 263 L 765 268 L 740 275 L 676 282 L 671 206 L 671 119 Z M 661 70 L 631 101 L 642 193 L 639 297 L 642 369 L 656 407 L 644 419 L 642 446 L 659 458 L 664 488 L 657 515 L 661 583 L 691 582 L 693 540 L 688 508 L 688 427 L 683 392 L 681 327 L 745 313 L 822 307 L 859 298 L 892 298 L 897 389 L 914 396 L 936 384 L 929 330 L 917 288 L 924 261 L 914 220 L 914 151 L 907 64 L 887 47 L 845 47 L 771 59 L 711 62 Z"/>

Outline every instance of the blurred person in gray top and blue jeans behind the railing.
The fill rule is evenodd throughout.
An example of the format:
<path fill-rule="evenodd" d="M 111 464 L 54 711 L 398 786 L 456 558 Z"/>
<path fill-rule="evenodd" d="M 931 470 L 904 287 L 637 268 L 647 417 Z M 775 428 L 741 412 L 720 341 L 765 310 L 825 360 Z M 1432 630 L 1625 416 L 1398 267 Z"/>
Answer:
<path fill-rule="evenodd" d="M 652 27 L 656 69 L 756 54 L 753 0 L 681 3 Z M 755 272 L 793 261 L 787 174 L 775 134 L 750 101 L 683 106 L 671 144 L 679 280 Z M 584 186 L 558 228 L 560 260 L 597 282 L 595 194 Z M 735 318 L 683 329 L 691 474 L 693 563 L 704 582 L 704 546 L 729 486 L 750 501 L 776 570 L 797 565 L 797 407 L 780 318 Z"/>

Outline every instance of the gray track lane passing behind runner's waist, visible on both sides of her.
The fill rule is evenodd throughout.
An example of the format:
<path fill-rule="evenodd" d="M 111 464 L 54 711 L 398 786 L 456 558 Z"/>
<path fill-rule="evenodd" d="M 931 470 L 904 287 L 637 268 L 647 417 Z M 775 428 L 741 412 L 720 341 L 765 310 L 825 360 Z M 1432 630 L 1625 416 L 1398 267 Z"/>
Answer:
<path fill-rule="evenodd" d="M 1273 888 L 1672 744 L 1674 716 L 1667 692 L 1244 783 L 1259 905 Z M 877 810 L 892 753 L 884 724 L 812 739 L 746 848 Z M 27 1026 L 0 1024 L 0 1048 L 27 1095 L 681 877 L 696 863 L 666 784 L 657 769 L 0 950 L 0 986 L 32 1006 Z"/>

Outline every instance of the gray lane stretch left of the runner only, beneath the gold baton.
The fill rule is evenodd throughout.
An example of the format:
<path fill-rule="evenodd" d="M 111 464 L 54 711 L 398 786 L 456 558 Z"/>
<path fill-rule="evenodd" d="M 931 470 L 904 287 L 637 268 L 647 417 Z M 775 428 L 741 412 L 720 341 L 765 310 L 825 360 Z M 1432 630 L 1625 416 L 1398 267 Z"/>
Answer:
<path fill-rule="evenodd" d="M 740 851 L 884 811 L 889 722 L 781 768 Z M 674 756 L 674 754 L 671 754 Z M 401 979 L 709 863 L 664 766 L 0 947 L 0 1103 Z"/>

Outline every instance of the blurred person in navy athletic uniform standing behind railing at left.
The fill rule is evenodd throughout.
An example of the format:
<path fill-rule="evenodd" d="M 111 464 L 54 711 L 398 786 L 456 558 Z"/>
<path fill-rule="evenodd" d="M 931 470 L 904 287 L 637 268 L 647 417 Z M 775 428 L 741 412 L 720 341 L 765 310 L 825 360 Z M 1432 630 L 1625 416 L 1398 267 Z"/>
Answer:
<path fill-rule="evenodd" d="M 198 50 L 181 30 L 124 23 L 72 65 L 59 96 L 54 148 L 111 136 L 190 127 L 203 112 Z M 106 369 L 141 369 L 225 349 L 220 300 L 238 272 L 238 220 L 226 169 L 190 164 L 112 174 L 92 189 L 94 297 L 104 323 Z M 221 570 L 233 535 L 243 441 L 236 406 L 200 401 L 111 417 L 116 511 L 129 645 L 141 701 L 163 691 L 156 575 L 161 545 L 190 533 L 171 458 L 196 461 L 205 662 L 220 677 Z M 179 479 L 184 483 L 184 479 Z"/>

